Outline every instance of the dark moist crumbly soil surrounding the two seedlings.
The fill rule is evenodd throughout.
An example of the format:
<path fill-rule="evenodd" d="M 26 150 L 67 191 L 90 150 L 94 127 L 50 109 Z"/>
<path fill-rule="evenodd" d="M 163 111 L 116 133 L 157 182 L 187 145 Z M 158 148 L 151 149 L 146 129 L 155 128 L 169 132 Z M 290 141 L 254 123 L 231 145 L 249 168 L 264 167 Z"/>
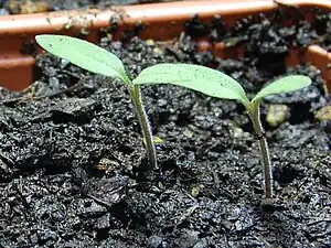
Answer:
<path fill-rule="evenodd" d="M 199 53 L 192 34 L 217 40 L 222 25 L 201 29 L 196 20 L 173 42 L 105 35 L 100 45 L 124 60 L 131 77 L 161 62 L 210 65 L 249 96 L 281 75 L 310 76 L 308 88 L 261 104 L 274 206 L 261 205 L 258 143 L 241 104 L 142 87 L 159 137 L 159 169 L 148 170 L 126 87 L 44 54 L 30 88 L 1 89 L 0 246 L 330 247 L 331 128 L 316 115 L 330 99 L 319 71 L 285 66 L 297 41 L 289 30 L 260 23 L 243 20 L 227 32 L 247 41 L 241 60 Z"/>

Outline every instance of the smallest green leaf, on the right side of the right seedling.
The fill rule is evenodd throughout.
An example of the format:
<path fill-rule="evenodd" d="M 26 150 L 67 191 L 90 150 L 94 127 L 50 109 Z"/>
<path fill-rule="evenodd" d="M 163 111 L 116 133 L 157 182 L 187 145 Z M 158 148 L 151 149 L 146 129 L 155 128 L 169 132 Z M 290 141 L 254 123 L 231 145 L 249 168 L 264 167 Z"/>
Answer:
<path fill-rule="evenodd" d="M 281 93 L 290 93 L 295 91 L 300 88 L 305 88 L 311 84 L 311 80 L 307 76 L 301 75 L 291 75 L 286 76 L 280 79 L 275 80 L 274 83 L 269 84 L 265 88 L 263 88 L 252 101 L 259 101 L 265 96 L 274 95 L 274 94 L 281 94 Z"/>

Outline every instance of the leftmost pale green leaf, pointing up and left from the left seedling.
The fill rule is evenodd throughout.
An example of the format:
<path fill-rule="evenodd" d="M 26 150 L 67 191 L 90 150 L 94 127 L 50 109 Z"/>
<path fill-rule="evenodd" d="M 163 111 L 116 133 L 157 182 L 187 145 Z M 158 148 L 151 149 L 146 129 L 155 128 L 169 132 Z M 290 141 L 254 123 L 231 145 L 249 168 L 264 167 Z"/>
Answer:
<path fill-rule="evenodd" d="M 35 40 L 45 51 L 84 69 L 120 78 L 127 84 L 130 83 L 121 61 L 113 53 L 93 43 L 76 37 L 52 34 L 36 35 Z"/>

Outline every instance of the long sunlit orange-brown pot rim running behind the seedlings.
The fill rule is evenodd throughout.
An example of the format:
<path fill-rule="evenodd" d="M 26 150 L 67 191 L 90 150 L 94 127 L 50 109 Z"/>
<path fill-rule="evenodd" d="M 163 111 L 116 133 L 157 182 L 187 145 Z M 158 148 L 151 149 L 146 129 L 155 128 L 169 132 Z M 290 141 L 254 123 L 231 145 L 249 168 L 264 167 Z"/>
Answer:
<path fill-rule="evenodd" d="M 73 10 L 52 11 L 32 14 L 12 14 L 0 17 L 0 36 L 49 33 L 73 25 L 74 29 L 100 29 L 109 24 L 113 17 L 119 17 L 126 25 L 137 22 L 158 23 L 181 21 L 199 13 L 201 19 L 211 18 L 215 14 L 229 15 L 243 14 L 249 11 L 274 10 L 277 4 L 273 0 L 204 0 L 204 1 L 179 1 L 161 2 L 138 6 L 120 6 L 107 10 Z M 38 28 L 38 29 L 36 29 Z"/>

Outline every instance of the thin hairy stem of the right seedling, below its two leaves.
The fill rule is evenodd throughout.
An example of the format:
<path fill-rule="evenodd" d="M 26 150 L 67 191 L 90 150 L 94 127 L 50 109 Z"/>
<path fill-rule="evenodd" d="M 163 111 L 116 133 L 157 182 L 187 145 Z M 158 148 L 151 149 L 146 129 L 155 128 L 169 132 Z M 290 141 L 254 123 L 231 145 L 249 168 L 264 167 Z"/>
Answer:
<path fill-rule="evenodd" d="M 268 200 L 268 198 L 273 198 L 273 172 L 271 172 L 271 162 L 269 157 L 268 143 L 260 123 L 258 104 L 253 106 L 249 114 L 250 114 L 249 115 L 250 119 L 253 121 L 254 130 L 259 141 L 259 149 L 260 149 L 263 171 L 264 171 L 264 181 L 265 181 L 264 182 L 265 197 Z"/>

